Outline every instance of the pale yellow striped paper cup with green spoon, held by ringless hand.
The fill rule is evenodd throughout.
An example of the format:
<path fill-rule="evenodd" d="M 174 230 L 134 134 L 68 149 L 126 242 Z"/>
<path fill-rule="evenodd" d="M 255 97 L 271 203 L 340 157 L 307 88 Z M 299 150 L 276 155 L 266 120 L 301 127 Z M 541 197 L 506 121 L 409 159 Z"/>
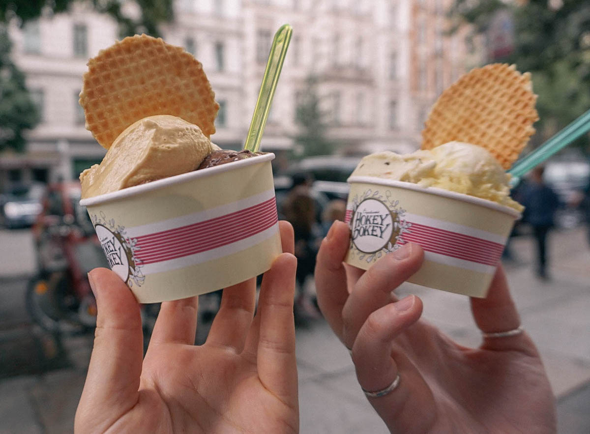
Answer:
<path fill-rule="evenodd" d="M 281 254 L 264 154 L 83 199 L 110 267 L 140 303 L 191 297 L 267 271 Z"/>

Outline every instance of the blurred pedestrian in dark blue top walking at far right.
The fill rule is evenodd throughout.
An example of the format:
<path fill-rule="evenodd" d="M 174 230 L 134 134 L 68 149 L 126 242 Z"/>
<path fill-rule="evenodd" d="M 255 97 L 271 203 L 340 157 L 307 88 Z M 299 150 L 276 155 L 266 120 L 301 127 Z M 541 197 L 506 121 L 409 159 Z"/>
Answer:
<path fill-rule="evenodd" d="M 533 228 L 536 242 L 536 274 L 540 279 L 549 278 L 547 274 L 547 244 L 549 231 L 555 225 L 555 212 L 559 208 L 558 195 L 543 181 L 544 168 L 535 167 L 529 177 L 529 182 L 522 190 L 520 200 L 524 205 L 523 219 Z"/>

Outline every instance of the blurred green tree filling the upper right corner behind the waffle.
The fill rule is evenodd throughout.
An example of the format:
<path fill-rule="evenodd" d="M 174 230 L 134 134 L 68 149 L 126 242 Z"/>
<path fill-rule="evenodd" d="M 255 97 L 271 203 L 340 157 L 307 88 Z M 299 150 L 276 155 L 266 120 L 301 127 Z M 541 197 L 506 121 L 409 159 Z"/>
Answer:
<path fill-rule="evenodd" d="M 510 11 L 514 25 L 513 50 L 503 61 L 530 71 L 539 96 L 539 144 L 590 108 L 590 2 L 455 0 L 450 17 L 455 28 L 467 21 L 486 35 L 501 9 Z M 588 137 L 578 144 L 587 145 Z"/>

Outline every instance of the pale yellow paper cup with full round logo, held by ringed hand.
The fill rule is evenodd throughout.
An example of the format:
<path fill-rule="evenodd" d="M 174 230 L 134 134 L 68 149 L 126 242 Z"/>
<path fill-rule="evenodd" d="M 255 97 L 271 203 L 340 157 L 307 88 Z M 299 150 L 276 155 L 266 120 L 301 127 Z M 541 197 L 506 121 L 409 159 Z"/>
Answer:
<path fill-rule="evenodd" d="M 490 200 L 414 183 L 351 176 L 348 264 L 369 269 L 407 242 L 424 249 L 409 282 L 486 297 L 520 213 Z"/>

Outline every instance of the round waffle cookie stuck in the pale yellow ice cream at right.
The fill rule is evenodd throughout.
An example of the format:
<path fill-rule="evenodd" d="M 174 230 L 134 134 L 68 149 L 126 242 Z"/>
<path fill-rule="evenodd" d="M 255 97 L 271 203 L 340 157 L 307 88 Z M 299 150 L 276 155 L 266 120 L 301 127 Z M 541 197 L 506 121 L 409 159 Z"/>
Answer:
<path fill-rule="evenodd" d="M 530 74 L 514 65 L 476 68 L 438 97 L 422 130 L 422 149 L 454 140 L 477 144 L 509 169 L 535 133 L 536 98 Z"/>

